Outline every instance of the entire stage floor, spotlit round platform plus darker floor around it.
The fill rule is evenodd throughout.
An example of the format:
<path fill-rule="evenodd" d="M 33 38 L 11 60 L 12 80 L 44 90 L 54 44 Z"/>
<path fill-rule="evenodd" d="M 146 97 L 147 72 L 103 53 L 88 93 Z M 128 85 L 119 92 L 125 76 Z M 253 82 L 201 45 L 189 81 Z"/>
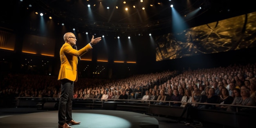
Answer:
<path fill-rule="evenodd" d="M 175 119 L 119 110 L 72 110 L 72 128 L 216 128 L 177 123 Z M 0 128 L 58 128 L 57 110 L 0 108 Z"/>

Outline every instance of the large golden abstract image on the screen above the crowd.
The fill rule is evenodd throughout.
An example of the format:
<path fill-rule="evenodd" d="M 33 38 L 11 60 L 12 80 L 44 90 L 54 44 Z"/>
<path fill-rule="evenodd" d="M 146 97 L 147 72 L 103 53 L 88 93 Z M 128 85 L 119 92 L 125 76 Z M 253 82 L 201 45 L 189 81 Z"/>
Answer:
<path fill-rule="evenodd" d="M 156 61 L 256 47 L 256 12 L 246 15 L 156 37 Z"/>

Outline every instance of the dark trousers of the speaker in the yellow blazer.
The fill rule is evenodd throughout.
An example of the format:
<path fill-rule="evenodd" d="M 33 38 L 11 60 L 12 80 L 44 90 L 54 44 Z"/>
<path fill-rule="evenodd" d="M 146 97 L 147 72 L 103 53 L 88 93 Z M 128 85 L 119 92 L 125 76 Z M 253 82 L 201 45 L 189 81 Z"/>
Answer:
<path fill-rule="evenodd" d="M 72 120 L 72 100 L 74 82 L 67 79 L 61 80 L 61 97 L 58 105 L 58 124 L 65 124 Z"/>

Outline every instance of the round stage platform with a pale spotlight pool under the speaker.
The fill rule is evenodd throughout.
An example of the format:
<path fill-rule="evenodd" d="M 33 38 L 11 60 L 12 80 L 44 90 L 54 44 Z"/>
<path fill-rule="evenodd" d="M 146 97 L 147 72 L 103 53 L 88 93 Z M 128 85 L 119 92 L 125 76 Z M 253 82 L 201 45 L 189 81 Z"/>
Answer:
<path fill-rule="evenodd" d="M 157 119 L 136 112 L 118 110 L 72 110 L 81 121 L 72 128 L 159 128 Z M 34 112 L 0 118 L 1 128 L 58 128 L 58 111 Z"/>

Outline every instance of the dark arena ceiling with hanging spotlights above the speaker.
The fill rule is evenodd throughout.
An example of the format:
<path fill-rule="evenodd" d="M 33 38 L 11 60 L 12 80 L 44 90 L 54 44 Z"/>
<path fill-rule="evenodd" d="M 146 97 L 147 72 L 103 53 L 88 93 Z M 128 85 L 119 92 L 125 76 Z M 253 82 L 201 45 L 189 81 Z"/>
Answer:
<path fill-rule="evenodd" d="M 126 1 L 126 4 L 123 2 Z M 6 1 L 7 2 L 7 1 Z M 158 4 L 160 3 L 160 4 Z M 29 7 L 29 4 L 32 7 Z M 88 9 L 87 5 L 91 7 Z M 150 4 L 153 6 L 151 7 Z M 52 16 L 58 23 L 70 27 L 96 32 L 114 33 L 169 33 L 172 30 L 172 10 L 180 14 L 188 27 L 195 27 L 218 20 L 254 12 L 253 0 L 10 0 L 2 4 L 1 23 L 11 22 L 14 9 L 26 9 L 27 12 L 43 12 Z M 17 6 L 13 6 L 17 5 Z M 136 8 L 132 6 L 135 5 Z M 8 7 L 11 6 L 11 7 Z M 116 9 L 118 6 L 118 9 Z M 110 9 L 106 9 L 110 7 Z M 125 8 L 128 7 L 128 11 Z M 141 8 L 145 7 L 145 10 Z M 188 17 L 193 10 L 202 7 L 194 16 Z M 11 13 L 5 9 L 9 9 Z M 26 14 L 23 14 L 26 15 Z M 185 17 L 186 15 L 186 17 Z M 21 19 L 22 20 L 22 17 Z"/>

